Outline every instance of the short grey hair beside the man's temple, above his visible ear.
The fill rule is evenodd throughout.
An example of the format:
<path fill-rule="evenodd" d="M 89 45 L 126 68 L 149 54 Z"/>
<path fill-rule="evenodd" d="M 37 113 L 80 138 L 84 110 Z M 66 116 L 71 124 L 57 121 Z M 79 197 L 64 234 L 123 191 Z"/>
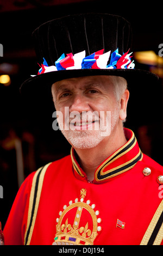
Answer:
<path fill-rule="evenodd" d="M 112 84 L 114 84 L 114 93 L 118 102 L 124 91 L 127 89 L 127 81 L 121 76 L 110 76 L 110 80 Z"/>

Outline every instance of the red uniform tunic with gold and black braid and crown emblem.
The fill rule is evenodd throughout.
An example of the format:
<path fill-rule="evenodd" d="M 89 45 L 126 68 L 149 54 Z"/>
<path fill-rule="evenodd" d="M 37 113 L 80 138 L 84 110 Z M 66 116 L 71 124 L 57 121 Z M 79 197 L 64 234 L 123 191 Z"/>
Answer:
<path fill-rule="evenodd" d="M 128 142 L 96 169 L 92 182 L 73 149 L 30 174 L 5 224 L 5 245 L 160 244 L 163 201 L 157 178 L 163 167 L 142 154 L 134 133 L 124 130 Z M 148 176 L 142 173 L 146 167 Z"/>

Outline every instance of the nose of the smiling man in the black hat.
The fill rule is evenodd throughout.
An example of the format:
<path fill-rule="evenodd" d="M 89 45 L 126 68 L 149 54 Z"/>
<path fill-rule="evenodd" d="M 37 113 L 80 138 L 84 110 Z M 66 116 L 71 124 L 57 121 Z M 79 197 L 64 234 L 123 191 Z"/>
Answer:
<path fill-rule="evenodd" d="M 82 111 L 89 111 L 89 110 L 90 110 L 89 102 L 86 99 L 86 97 L 84 97 L 84 95 L 76 95 L 73 97 L 73 100 L 70 106 L 70 112 L 77 111 L 79 113 L 82 113 Z"/>

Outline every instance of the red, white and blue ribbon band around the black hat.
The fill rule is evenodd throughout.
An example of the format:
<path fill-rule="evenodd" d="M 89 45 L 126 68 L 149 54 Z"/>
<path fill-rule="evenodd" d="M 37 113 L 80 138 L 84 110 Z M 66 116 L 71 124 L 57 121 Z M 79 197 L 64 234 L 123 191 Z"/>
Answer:
<path fill-rule="evenodd" d="M 118 48 L 112 52 L 103 53 L 104 49 L 99 50 L 89 56 L 85 56 L 85 51 L 72 54 L 63 53 L 61 57 L 55 62 L 55 65 L 48 66 L 45 58 L 43 58 L 43 64 L 41 64 L 37 75 L 47 72 L 58 70 L 70 70 L 70 69 L 134 69 L 134 60 L 131 61 L 131 53 L 129 50 L 121 55 L 118 53 Z M 110 58 L 110 62 L 109 62 Z M 109 64 L 108 64 L 109 63 Z"/>

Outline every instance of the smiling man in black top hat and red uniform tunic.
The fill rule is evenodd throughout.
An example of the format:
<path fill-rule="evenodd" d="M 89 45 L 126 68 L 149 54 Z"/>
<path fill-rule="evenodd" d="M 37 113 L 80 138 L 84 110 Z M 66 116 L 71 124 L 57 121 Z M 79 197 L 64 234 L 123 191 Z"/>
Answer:
<path fill-rule="evenodd" d="M 124 53 L 129 31 L 126 20 L 108 14 L 68 16 L 35 31 L 45 59 L 21 90 L 29 96 L 51 90 L 72 149 L 23 182 L 4 228 L 6 245 L 162 243 L 163 168 L 141 152 L 133 131 L 123 128 L 127 83 L 135 86 L 145 78 L 149 90 L 156 82 L 155 75 L 133 69 L 130 53 Z M 93 52 L 100 34 L 105 53 L 85 57 L 80 45 Z M 56 54 L 73 46 L 76 55 L 61 56 L 54 65 Z"/>

